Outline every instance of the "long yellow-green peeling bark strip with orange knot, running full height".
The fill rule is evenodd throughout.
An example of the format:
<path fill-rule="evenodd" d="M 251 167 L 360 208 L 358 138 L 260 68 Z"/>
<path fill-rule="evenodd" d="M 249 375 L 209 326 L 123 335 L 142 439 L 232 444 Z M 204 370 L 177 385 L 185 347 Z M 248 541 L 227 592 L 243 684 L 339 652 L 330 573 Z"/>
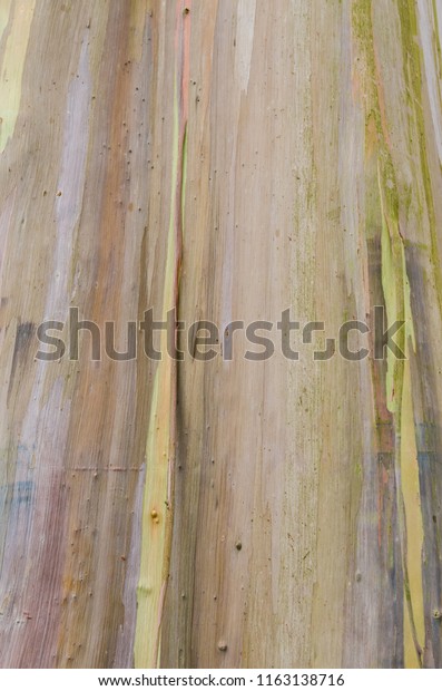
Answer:
<path fill-rule="evenodd" d="M 174 138 L 171 199 L 161 321 L 173 308 L 179 314 L 179 273 L 186 182 L 186 128 L 189 95 L 190 0 L 176 2 Z M 163 331 L 160 352 L 167 352 Z M 164 601 L 170 570 L 177 445 L 177 362 L 166 358 L 155 373 L 146 442 L 146 490 L 143 508 L 141 564 L 138 585 L 135 664 L 159 663 Z"/>

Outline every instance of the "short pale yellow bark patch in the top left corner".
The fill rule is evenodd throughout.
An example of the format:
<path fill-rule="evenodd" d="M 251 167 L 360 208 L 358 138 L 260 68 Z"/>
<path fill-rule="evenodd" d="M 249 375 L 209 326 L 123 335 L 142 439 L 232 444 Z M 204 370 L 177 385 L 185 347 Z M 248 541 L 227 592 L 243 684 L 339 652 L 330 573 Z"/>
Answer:
<path fill-rule="evenodd" d="M 35 0 L 20 0 L 14 4 L 12 26 L 1 64 L 0 153 L 4 150 L 9 137 L 13 134 L 20 109 L 21 78 L 35 7 Z M 0 29 L 3 23 L 4 16 L 2 14 Z"/>

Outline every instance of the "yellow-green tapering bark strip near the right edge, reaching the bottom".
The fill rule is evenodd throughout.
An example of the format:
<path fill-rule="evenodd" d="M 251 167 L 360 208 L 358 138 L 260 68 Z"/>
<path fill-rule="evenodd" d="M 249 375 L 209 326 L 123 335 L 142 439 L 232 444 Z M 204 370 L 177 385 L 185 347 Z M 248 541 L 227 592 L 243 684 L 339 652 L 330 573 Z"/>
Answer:
<path fill-rule="evenodd" d="M 392 186 L 389 178 L 386 185 Z M 385 202 L 385 192 L 379 171 L 382 205 L 382 285 L 389 324 L 405 322 L 401 349 L 407 354 L 414 344 L 410 306 L 410 283 L 406 275 L 403 241 L 394 207 Z M 386 373 L 386 405 L 396 422 L 396 464 L 399 476 L 399 510 L 402 525 L 404 568 L 404 655 L 405 666 L 422 666 L 425 640 L 422 584 L 423 523 L 420 500 L 418 450 L 414 436 L 413 400 L 410 361 L 397 360 L 389 349 Z M 401 515 L 403 514 L 403 516 Z"/>

